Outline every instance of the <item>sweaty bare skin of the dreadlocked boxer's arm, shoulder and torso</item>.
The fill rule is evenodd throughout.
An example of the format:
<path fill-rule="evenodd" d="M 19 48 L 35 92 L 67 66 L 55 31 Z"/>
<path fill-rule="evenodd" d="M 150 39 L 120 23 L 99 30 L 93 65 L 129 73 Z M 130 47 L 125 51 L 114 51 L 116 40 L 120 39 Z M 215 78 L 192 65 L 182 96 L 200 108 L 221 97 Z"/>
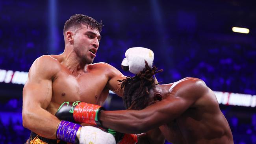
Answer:
<path fill-rule="evenodd" d="M 102 125 L 122 133 L 159 128 L 162 136 L 173 144 L 234 144 L 216 96 L 202 80 L 185 78 L 156 85 L 150 98 L 152 103 L 139 111 L 102 111 Z M 160 137 L 158 134 L 156 138 Z"/>

